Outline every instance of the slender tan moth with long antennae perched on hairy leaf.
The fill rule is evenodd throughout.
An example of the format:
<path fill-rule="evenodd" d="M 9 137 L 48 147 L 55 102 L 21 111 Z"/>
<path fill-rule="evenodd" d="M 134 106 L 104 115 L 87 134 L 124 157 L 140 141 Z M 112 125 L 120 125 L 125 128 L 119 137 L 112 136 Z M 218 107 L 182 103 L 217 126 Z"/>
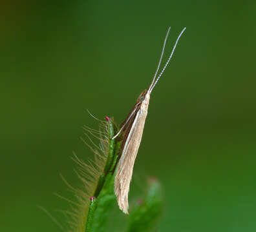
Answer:
<path fill-rule="evenodd" d="M 118 133 L 116 133 L 116 135 L 114 135 L 114 137 L 112 137 L 112 139 L 115 139 L 123 131 L 123 141 L 120 149 L 121 155 L 118 161 L 118 166 L 116 168 L 116 176 L 114 179 L 114 193 L 116 195 L 119 208 L 125 214 L 128 213 L 129 186 L 133 175 L 134 161 L 136 159 L 136 155 L 140 147 L 140 142 L 142 140 L 142 133 L 144 130 L 145 119 L 147 117 L 147 109 L 149 107 L 150 95 L 156 83 L 160 79 L 162 73 L 164 73 L 164 70 L 167 67 L 169 61 L 171 60 L 173 52 L 175 51 L 176 48 L 176 44 L 178 43 L 181 35 L 186 30 L 186 28 L 184 28 L 182 32 L 180 32 L 180 35 L 178 35 L 176 43 L 173 46 L 171 55 L 169 55 L 167 62 L 162 68 L 161 72 L 158 74 L 162 57 L 164 55 L 165 43 L 167 41 L 167 37 L 169 35 L 170 30 L 171 28 L 169 27 L 167 30 L 167 34 L 165 35 L 162 53 L 160 56 L 160 60 L 158 61 L 158 66 L 156 68 L 153 81 L 151 82 L 150 86 L 140 94 L 136 101 L 136 104 L 134 104 L 129 115 L 121 124 L 120 130 L 118 131 Z"/>

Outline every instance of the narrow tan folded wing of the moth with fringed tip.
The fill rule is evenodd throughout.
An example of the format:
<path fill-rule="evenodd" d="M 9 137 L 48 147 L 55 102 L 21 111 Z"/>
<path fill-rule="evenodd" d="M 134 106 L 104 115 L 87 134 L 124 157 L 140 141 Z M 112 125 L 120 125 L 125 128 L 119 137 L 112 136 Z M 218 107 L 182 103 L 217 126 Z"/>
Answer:
<path fill-rule="evenodd" d="M 114 193 L 116 194 L 119 208 L 122 209 L 123 213 L 128 213 L 129 186 L 133 175 L 134 161 L 140 147 L 140 141 L 142 140 L 149 98 L 150 95 L 146 94 L 140 110 L 136 113 L 133 125 L 125 141 L 114 179 Z"/>

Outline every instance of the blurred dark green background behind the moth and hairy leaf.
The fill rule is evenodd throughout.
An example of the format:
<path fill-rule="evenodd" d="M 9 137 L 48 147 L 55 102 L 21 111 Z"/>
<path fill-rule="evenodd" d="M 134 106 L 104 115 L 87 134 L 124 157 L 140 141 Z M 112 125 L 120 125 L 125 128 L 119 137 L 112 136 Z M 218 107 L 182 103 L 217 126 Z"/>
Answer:
<path fill-rule="evenodd" d="M 153 94 L 131 198 L 161 182 L 158 231 L 256 230 L 255 1 L 2 1 L 0 231 L 59 231 L 92 157 L 86 109 L 121 123 L 187 30 Z M 116 214 L 125 220 L 122 213 Z M 114 218 L 116 222 L 116 218 Z M 122 231 L 120 229 L 119 231 Z"/>

